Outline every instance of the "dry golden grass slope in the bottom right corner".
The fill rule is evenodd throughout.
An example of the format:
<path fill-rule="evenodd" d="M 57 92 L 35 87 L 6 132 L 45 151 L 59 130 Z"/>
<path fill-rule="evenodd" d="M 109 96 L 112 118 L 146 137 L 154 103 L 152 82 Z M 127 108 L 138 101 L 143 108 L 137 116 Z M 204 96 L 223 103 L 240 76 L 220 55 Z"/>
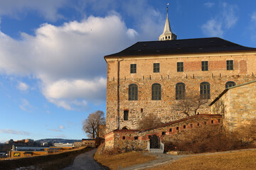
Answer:
<path fill-rule="evenodd" d="M 200 155 L 179 159 L 171 164 L 156 166 L 149 170 L 166 169 L 256 169 L 256 151 Z"/>

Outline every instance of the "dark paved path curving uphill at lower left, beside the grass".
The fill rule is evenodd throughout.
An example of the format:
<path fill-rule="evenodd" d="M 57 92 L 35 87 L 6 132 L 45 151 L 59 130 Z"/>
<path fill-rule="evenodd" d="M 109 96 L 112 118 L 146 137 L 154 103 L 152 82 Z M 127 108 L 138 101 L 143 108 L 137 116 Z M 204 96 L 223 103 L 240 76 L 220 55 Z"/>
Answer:
<path fill-rule="evenodd" d="M 104 168 L 93 159 L 93 155 L 96 151 L 97 148 L 78 155 L 78 157 L 75 157 L 73 164 L 63 170 L 104 170 Z"/>

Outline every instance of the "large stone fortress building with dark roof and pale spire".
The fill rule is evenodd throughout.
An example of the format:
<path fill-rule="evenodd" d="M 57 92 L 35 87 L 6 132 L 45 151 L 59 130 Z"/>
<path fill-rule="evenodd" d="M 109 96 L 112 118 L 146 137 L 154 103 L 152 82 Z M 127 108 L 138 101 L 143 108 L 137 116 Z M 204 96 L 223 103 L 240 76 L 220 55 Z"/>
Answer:
<path fill-rule="evenodd" d="M 173 105 L 189 93 L 210 103 L 226 88 L 255 80 L 256 48 L 221 38 L 176 38 L 167 14 L 159 41 L 137 42 L 105 56 L 107 133 L 137 130 L 138 121 L 149 114 L 163 123 L 186 118 Z M 210 113 L 210 108 L 198 113 Z"/>

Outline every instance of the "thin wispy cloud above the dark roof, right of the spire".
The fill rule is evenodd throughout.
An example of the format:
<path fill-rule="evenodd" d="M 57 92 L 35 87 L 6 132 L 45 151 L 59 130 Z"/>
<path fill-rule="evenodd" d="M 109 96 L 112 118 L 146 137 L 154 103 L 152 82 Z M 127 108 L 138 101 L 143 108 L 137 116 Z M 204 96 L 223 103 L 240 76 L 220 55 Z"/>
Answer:
<path fill-rule="evenodd" d="M 229 30 L 238 21 L 238 16 L 235 14 L 238 11 L 238 7 L 235 5 L 229 5 L 227 3 L 221 3 L 222 12 L 217 16 L 211 18 L 201 26 L 203 33 L 208 36 L 223 36 L 225 31 Z"/>

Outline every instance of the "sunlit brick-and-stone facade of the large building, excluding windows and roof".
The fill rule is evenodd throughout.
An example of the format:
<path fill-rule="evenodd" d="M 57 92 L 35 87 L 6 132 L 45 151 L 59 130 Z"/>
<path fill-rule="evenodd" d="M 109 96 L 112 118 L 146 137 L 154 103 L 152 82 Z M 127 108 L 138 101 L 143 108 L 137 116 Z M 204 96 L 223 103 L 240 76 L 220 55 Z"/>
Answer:
<path fill-rule="evenodd" d="M 234 69 L 226 70 L 226 60 L 234 61 Z M 208 71 L 201 71 L 201 61 L 208 61 Z M 176 63 L 183 62 L 184 72 L 177 72 Z M 160 63 L 160 72 L 153 72 L 153 64 Z M 255 79 L 255 55 L 242 54 L 201 54 L 166 55 L 146 57 L 126 57 L 119 62 L 119 128 L 137 129 L 138 121 L 150 113 L 158 115 L 163 123 L 185 118 L 186 115 L 173 111 L 175 86 L 186 84 L 186 94 L 196 91 L 200 94 L 200 84 L 210 83 L 210 101 L 224 89 L 225 83 L 235 81 L 243 84 Z M 130 64 L 137 64 L 137 73 L 130 74 Z M 161 84 L 161 101 L 151 100 L 151 85 Z M 129 84 L 137 84 L 138 100 L 129 101 Z M 124 120 L 124 111 L 129 111 Z M 210 108 L 198 113 L 210 113 Z M 193 113 L 191 113 L 192 115 Z M 107 60 L 107 132 L 117 129 L 117 59 Z"/>

